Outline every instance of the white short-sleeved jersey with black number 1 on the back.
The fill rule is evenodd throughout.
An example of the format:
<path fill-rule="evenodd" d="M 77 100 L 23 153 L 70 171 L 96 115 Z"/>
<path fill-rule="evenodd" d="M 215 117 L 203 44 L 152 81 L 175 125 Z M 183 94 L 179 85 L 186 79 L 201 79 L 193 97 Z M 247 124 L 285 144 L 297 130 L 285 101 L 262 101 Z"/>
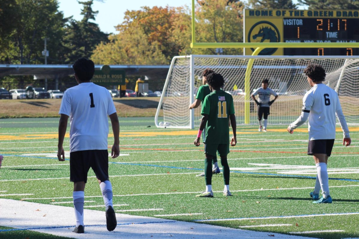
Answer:
<path fill-rule="evenodd" d="M 108 118 L 116 113 L 108 90 L 92 82 L 64 92 L 59 114 L 70 116 L 70 152 L 108 149 Z"/>

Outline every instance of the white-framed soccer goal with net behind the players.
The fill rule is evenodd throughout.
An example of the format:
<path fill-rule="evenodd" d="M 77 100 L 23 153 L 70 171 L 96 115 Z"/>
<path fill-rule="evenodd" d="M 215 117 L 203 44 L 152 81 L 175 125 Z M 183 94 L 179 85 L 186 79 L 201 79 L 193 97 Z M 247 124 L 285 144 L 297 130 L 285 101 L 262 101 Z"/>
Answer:
<path fill-rule="evenodd" d="M 251 75 L 245 80 L 250 59 L 253 61 Z M 279 95 L 270 109 L 270 124 L 289 124 L 300 115 L 303 96 L 311 88 L 303 74 L 308 63 L 323 66 L 327 74 L 324 83 L 338 93 L 347 123 L 358 124 L 357 57 L 218 55 L 177 56 L 172 59 L 155 115 L 155 124 L 159 128 L 193 129 L 199 126 L 201 106 L 194 110 L 189 110 L 188 106 L 194 102 L 197 89 L 202 84 L 202 72 L 206 68 L 223 75 L 226 82 L 223 90 L 233 96 L 237 124 L 257 123 L 257 106 L 250 99 L 250 94 L 261 86 L 265 78 L 270 82 L 269 87 Z M 159 120 L 161 110 L 163 120 Z"/>

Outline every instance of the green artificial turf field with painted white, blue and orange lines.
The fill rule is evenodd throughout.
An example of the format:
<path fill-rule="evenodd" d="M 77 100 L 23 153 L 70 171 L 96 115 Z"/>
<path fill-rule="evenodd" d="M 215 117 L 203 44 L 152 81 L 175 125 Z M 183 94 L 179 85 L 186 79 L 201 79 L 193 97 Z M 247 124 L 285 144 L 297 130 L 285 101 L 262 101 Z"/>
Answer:
<path fill-rule="evenodd" d="M 59 205 L 73 207 L 69 161 L 59 162 L 56 157 L 58 120 L 0 120 L 1 198 L 69 202 Z M 307 128 L 302 126 L 290 135 L 286 127 L 269 125 L 268 132 L 258 132 L 254 125 L 238 126 L 238 143 L 228 154 L 233 196 L 222 195 L 219 174 L 212 180 L 214 198 L 196 198 L 205 188 L 204 178 L 195 177 L 204 167 L 203 145 L 193 144 L 197 130 L 157 129 L 153 118 L 120 118 L 121 156 L 109 158 L 113 203 L 122 205 L 115 206 L 115 211 L 316 238 L 359 237 L 359 128 L 349 127 L 350 147 L 342 146 L 342 132 L 337 129 L 328 162 L 333 203 L 313 204 L 309 192 L 316 168 L 313 158 L 306 155 Z M 67 159 L 68 137 L 64 143 Z M 112 143 L 110 129 L 109 150 Z M 94 173 L 90 170 L 88 176 L 85 201 L 90 202 L 85 206 L 103 211 Z M 0 238 L 26 237 L 59 238 L 9 231 L 0 225 Z"/>

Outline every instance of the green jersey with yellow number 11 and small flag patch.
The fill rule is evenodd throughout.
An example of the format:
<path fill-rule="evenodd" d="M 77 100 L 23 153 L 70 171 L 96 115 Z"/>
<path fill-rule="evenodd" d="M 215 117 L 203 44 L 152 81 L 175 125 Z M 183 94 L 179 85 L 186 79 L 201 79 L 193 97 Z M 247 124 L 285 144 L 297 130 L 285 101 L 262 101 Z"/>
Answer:
<path fill-rule="evenodd" d="M 202 115 L 207 114 L 206 144 L 229 144 L 229 115 L 234 114 L 232 95 L 215 90 L 207 95 L 202 105 Z"/>

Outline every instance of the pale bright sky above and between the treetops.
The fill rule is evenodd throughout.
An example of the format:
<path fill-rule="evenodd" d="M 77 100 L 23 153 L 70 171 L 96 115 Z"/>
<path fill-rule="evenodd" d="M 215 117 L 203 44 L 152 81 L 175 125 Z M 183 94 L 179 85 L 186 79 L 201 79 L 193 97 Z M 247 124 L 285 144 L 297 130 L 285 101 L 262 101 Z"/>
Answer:
<path fill-rule="evenodd" d="M 62 11 L 65 17 L 73 16 L 75 20 L 81 20 L 82 16 L 81 7 L 76 0 L 58 0 L 59 10 Z M 297 0 L 293 1 L 297 3 Z M 114 26 L 122 23 L 126 10 L 139 10 L 141 6 L 162 6 L 167 5 L 172 7 L 178 6 L 191 6 L 192 0 L 105 0 L 103 3 L 100 1 L 94 1 L 92 9 L 99 11 L 96 16 L 95 23 L 97 23 L 100 29 L 106 33 L 117 33 Z M 303 9 L 303 7 L 299 7 Z"/>

